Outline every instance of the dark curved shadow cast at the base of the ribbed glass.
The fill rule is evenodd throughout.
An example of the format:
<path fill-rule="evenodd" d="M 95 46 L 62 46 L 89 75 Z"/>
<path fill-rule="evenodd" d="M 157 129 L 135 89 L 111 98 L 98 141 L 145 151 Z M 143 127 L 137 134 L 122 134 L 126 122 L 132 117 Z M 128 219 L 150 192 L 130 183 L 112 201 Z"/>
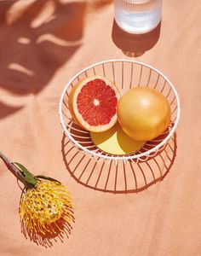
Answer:
<path fill-rule="evenodd" d="M 113 20 L 112 41 L 122 50 L 124 55 L 138 57 L 157 44 L 160 37 L 161 22 L 151 32 L 144 34 L 131 34 L 124 32 Z"/>

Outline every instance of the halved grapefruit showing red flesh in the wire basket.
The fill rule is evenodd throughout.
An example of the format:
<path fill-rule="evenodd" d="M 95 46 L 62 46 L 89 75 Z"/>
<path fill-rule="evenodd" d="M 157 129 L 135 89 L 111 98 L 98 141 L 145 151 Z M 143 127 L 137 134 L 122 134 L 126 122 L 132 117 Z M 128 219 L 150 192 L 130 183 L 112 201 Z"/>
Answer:
<path fill-rule="evenodd" d="M 101 132 L 117 122 L 120 93 L 109 79 L 92 76 L 78 82 L 69 96 L 72 118 L 86 131 Z"/>

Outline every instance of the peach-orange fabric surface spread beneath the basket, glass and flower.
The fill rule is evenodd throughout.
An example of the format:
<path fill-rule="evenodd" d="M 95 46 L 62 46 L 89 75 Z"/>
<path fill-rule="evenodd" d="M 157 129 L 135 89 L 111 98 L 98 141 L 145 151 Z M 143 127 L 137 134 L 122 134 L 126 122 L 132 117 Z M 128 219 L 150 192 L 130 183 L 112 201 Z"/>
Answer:
<path fill-rule="evenodd" d="M 18 216 L 20 188 L 0 161 L 0 255 L 201 255 L 200 9 L 199 1 L 164 0 L 161 26 L 134 40 L 113 25 L 112 1 L 0 3 L 0 150 L 65 183 L 75 204 L 69 238 L 47 248 L 26 239 Z M 76 149 L 69 152 L 58 103 L 72 75 L 96 61 L 132 59 L 123 52 L 135 52 L 133 59 L 172 81 L 181 119 L 164 180 L 115 195 L 71 176 L 66 162 Z"/>

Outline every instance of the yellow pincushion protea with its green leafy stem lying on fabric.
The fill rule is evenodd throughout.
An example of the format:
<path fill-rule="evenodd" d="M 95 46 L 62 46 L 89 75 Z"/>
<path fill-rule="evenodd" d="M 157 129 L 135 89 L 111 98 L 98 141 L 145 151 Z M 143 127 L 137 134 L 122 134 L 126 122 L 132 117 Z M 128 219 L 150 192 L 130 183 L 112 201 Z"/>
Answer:
<path fill-rule="evenodd" d="M 71 233 L 73 217 L 72 198 L 66 186 L 52 177 L 34 176 L 25 166 L 11 163 L 0 152 L 0 157 L 25 187 L 20 198 L 19 214 L 24 235 L 38 242 Z M 47 242 L 47 241 L 46 241 Z"/>

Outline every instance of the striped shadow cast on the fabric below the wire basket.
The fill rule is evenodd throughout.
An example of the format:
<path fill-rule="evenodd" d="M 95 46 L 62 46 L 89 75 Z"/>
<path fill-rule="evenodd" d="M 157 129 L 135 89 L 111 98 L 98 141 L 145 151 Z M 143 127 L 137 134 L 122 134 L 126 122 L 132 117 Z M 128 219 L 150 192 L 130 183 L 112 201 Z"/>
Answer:
<path fill-rule="evenodd" d="M 79 151 L 63 134 L 61 152 L 67 171 L 83 186 L 113 194 L 137 193 L 162 181 L 174 164 L 176 134 L 155 156 L 147 160 L 91 159 Z"/>

